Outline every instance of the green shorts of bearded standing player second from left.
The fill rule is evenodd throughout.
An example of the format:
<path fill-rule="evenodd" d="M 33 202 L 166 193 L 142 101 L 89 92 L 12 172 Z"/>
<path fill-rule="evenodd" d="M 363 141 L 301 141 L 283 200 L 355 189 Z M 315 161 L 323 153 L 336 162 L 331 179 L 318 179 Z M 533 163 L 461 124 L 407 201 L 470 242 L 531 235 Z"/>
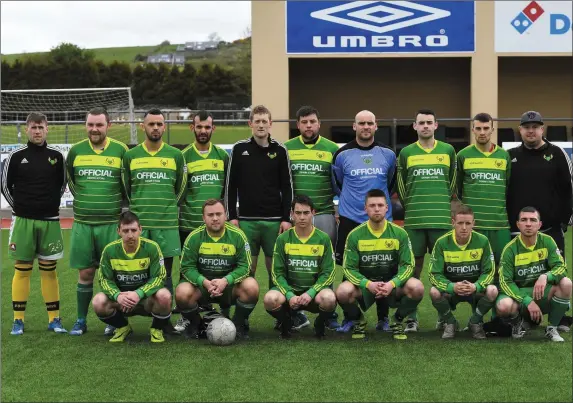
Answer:
<path fill-rule="evenodd" d="M 89 225 L 74 221 L 70 239 L 70 267 L 97 268 L 103 248 L 119 239 L 117 224 Z"/>

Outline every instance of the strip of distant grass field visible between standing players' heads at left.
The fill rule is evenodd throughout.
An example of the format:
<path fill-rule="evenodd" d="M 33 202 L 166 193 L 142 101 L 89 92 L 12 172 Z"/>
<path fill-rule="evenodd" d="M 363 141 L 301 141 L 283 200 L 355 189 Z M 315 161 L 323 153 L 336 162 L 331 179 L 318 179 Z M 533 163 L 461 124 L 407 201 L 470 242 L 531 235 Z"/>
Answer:
<path fill-rule="evenodd" d="M 27 141 L 27 136 L 24 131 L 24 126 L 21 126 L 21 142 Z M 85 127 L 83 125 L 70 125 L 68 129 L 68 137 L 66 141 L 65 129 L 63 126 L 50 125 L 48 127 L 48 142 L 51 144 L 74 144 L 87 137 Z M 18 143 L 18 134 L 16 127 L 13 125 L 3 125 L 0 134 L 1 144 L 16 144 Z M 127 124 L 114 124 L 108 131 L 108 135 L 112 138 L 129 143 L 130 132 L 129 125 Z M 239 140 L 248 138 L 251 135 L 251 129 L 247 125 L 236 126 L 217 126 L 213 133 L 213 142 L 215 144 L 234 144 Z M 145 139 L 145 132 L 138 126 L 137 127 L 138 142 L 141 143 Z M 186 124 L 170 124 L 169 131 L 163 134 L 163 140 L 168 144 L 189 144 L 195 141 L 193 132 Z"/>

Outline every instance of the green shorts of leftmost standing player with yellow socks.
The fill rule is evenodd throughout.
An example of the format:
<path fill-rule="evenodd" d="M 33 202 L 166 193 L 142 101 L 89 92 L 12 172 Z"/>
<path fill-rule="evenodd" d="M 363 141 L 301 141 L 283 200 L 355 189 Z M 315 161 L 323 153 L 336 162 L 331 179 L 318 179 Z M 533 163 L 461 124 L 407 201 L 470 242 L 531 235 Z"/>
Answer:
<path fill-rule="evenodd" d="M 34 220 L 12 216 L 8 238 L 8 254 L 25 262 L 35 258 L 57 260 L 64 256 L 60 221 Z"/>

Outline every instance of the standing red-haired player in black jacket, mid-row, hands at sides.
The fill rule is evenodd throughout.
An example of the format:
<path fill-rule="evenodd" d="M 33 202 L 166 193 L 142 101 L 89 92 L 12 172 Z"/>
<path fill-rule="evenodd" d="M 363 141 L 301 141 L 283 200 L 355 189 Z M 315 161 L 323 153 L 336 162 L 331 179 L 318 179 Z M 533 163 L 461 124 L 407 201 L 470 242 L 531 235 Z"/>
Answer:
<path fill-rule="evenodd" d="M 252 137 L 235 143 L 231 150 L 225 205 L 230 223 L 247 235 L 251 253 L 251 275 L 257 270 L 260 248 L 271 287 L 271 261 L 279 234 L 291 227 L 292 178 L 286 148 L 271 138 L 271 112 L 263 105 L 249 116 Z M 237 197 L 240 203 L 237 212 Z M 308 325 L 308 320 L 306 321 Z"/>

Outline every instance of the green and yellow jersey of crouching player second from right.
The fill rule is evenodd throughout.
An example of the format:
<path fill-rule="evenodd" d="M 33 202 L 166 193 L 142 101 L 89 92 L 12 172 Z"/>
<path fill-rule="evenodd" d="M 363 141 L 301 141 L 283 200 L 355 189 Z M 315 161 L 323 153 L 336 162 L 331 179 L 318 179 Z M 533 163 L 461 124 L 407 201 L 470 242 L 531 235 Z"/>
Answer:
<path fill-rule="evenodd" d="M 495 263 L 491 245 L 485 235 L 472 231 L 465 245 L 456 242 L 455 230 L 436 241 L 430 267 L 430 283 L 441 292 L 454 294 L 454 283 L 469 281 L 476 292 L 483 293 L 495 276 Z"/>

